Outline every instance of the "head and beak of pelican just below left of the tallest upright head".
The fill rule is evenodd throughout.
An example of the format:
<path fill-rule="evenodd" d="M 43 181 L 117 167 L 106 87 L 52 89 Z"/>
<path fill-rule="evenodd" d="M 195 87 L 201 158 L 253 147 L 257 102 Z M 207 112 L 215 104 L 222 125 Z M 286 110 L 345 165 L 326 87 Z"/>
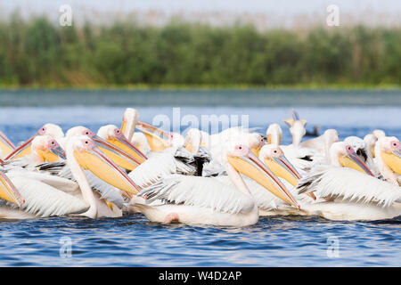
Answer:
<path fill-rule="evenodd" d="M 131 144 L 131 142 L 127 140 L 126 136 L 117 126 L 102 126 L 97 131 L 97 135 L 118 147 L 120 150 L 127 152 L 129 155 L 139 161 L 139 163 L 143 163 L 143 161 L 147 159 L 141 151 L 139 151 L 134 145 Z"/>

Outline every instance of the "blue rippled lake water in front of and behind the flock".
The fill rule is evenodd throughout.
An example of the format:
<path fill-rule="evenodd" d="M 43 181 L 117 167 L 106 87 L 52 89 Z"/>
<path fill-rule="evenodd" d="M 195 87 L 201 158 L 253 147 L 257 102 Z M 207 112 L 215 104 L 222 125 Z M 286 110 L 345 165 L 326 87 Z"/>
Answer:
<path fill-rule="evenodd" d="M 201 115 L 225 114 L 248 115 L 250 126 L 260 126 L 263 133 L 269 123 L 289 118 L 294 107 L 301 118 L 307 119 L 308 129 L 319 125 L 323 132 L 335 127 L 341 138 L 351 134 L 363 136 L 377 127 L 389 135 L 400 137 L 401 134 L 401 94 L 395 91 L 364 93 L 364 96 L 361 92 L 337 92 L 335 98 L 330 93 L 318 95 L 305 91 L 282 92 L 281 98 L 274 92 L 265 92 L 265 97 L 279 98 L 279 103 L 271 104 L 266 104 L 269 100 L 262 96 L 262 91 L 234 92 L 236 98 L 249 99 L 239 102 L 227 101 L 228 92 L 188 91 L 185 95 L 185 92 L 169 91 L 171 101 L 167 104 L 159 91 L 140 92 L 142 99 L 132 92 L 116 92 L 114 103 L 104 98 L 105 94 L 113 94 L 112 91 L 46 92 L 43 102 L 39 100 L 40 93 L 0 92 L 0 130 L 13 142 L 27 139 L 46 122 L 60 124 L 64 130 L 77 124 L 94 131 L 104 124 L 119 126 L 126 106 L 137 108 L 141 119 L 147 122 L 157 115 L 168 115 L 171 128 L 183 131 L 187 126 L 177 126 L 177 122 L 184 115 L 201 118 Z M 302 97 L 300 103 L 294 100 L 297 94 Z M 209 103 L 203 101 L 201 108 L 180 104 L 182 98 L 185 102 L 195 102 L 204 96 L 217 98 Z M 260 97 L 264 103 L 254 101 Z M 146 98 L 151 98 L 152 106 Z M 324 98 L 331 98 L 332 106 Z M 224 101 L 225 104 L 215 103 Z M 184 107 L 179 110 L 179 116 L 175 113 L 178 119 L 173 120 L 175 106 Z M 288 129 L 281 125 L 283 142 L 290 142 Z M 399 217 L 377 222 L 273 217 L 260 218 L 258 224 L 244 228 L 151 224 L 142 215 L 98 220 L 53 217 L 0 221 L 0 224 L 0 266 L 401 265 Z M 333 238 L 338 241 L 339 257 L 328 256 L 328 239 Z M 63 257 L 63 240 L 71 241 L 71 257 Z"/>

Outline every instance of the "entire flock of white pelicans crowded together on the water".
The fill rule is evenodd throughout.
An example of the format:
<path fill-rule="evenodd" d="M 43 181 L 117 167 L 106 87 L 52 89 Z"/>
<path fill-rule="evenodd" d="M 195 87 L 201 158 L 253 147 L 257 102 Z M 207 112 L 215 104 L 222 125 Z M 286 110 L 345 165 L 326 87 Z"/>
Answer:
<path fill-rule="evenodd" d="M 266 135 L 233 127 L 186 136 L 139 121 L 122 125 L 45 124 L 15 147 L 0 132 L 0 218 L 118 217 L 151 222 L 245 226 L 259 216 L 377 220 L 401 215 L 401 143 L 381 130 L 339 142 L 334 129 L 304 140 L 292 110 Z M 141 132 L 135 132 L 135 130 Z"/>

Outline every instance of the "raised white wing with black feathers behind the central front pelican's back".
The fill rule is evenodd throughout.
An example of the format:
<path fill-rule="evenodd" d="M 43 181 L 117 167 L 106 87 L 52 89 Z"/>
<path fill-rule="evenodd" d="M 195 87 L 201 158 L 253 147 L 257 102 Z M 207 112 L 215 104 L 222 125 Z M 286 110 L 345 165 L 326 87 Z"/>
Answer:
<path fill-rule="evenodd" d="M 131 171 L 128 176 L 143 188 L 158 182 L 168 175 L 194 175 L 197 172 L 196 167 L 183 162 L 185 158 L 187 162 L 194 163 L 193 157 L 192 160 L 187 157 L 187 152 L 178 151 L 176 153 L 173 148 L 162 152 L 154 152 L 150 158 Z"/>

